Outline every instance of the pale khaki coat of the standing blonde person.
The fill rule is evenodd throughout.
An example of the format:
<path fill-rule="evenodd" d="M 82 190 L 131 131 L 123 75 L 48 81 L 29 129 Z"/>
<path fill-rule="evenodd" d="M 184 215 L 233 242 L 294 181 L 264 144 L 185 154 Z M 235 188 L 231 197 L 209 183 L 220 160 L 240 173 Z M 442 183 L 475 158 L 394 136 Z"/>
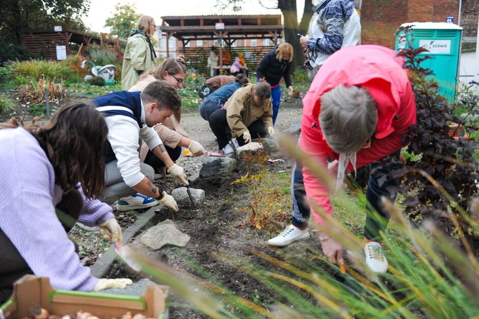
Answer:
<path fill-rule="evenodd" d="M 123 66 L 121 67 L 121 88 L 129 90 L 138 78 L 137 71 L 148 72 L 156 67 L 148 39 L 140 34 L 132 35 L 126 42 Z"/>

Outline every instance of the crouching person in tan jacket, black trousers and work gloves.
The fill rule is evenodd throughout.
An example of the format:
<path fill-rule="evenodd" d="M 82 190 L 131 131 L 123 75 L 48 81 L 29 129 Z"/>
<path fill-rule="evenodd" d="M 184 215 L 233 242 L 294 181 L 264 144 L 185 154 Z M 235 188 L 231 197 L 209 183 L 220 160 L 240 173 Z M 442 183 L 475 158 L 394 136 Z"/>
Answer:
<path fill-rule="evenodd" d="M 209 127 L 218 140 L 218 147 L 225 155 L 233 153 L 231 137 L 240 146 L 251 139 L 274 135 L 271 86 L 264 81 L 247 84 L 234 92 L 223 108 L 209 117 Z M 231 133 L 228 130 L 231 129 Z"/>

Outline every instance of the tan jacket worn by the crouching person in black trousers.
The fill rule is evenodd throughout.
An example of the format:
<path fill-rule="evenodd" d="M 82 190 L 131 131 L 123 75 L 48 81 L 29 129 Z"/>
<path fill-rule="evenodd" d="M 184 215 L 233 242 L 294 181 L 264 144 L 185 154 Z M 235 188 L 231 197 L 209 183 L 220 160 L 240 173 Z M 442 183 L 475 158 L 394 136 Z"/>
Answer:
<path fill-rule="evenodd" d="M 273 126 L 273 105 L 271 98 L 264 100 L 261 105 L 256 105 L 253 100 L 254 84 L 247 84 L 236 90 L 226 101 L 226 120 L 231 128 L 233 138 L 241 136 L 248 130 L 254 121 L 261 119 L 264 128 Z"/>

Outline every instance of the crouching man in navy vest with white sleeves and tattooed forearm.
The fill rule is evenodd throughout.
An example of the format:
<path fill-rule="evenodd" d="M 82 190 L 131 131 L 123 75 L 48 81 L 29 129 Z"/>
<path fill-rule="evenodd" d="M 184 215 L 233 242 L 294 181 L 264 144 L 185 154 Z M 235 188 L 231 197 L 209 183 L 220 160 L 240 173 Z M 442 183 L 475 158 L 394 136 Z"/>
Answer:
<path fill-rule="evenodd" d="M 139 154 L 143 140 L 165 164 L 168 173 L 188 185 L 183 168 L 171 160 L 165 145 L 151 127 L 165 121 L 181 107 L 175 88 L 165 81 L 154 81 L 143 92 L 113 92 L 94 99 L 92 103 L 105 116 L 108 125 L 103 150 L 107 180 L 101 201 L 111 204 L 120 198 L 116 205 L 118 210 L 146 208 L 160 202 L 178 211 L 173 197 L 153 185 L 154 170 L 140 163 Z"/>

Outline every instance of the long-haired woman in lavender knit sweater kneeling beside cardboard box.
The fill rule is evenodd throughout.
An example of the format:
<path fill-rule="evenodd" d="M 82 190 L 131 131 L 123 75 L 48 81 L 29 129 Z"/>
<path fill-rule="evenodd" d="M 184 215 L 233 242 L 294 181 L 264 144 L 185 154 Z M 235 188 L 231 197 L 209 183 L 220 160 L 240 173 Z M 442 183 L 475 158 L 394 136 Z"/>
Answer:
<path fill-rule="evenodd" d="M 5 127 L 0 130 L 0 304 L 25 274 L 48 277 L 53 287 L 67 290 L 131 284 L 93 277 L 67 235 L 78 220 L 122 241 L 112 208 L 96 199 L 104 184 L 103 116 L 90 104 L 73 102 L 43 126 L 18 127 L 12 121 Z"/>

